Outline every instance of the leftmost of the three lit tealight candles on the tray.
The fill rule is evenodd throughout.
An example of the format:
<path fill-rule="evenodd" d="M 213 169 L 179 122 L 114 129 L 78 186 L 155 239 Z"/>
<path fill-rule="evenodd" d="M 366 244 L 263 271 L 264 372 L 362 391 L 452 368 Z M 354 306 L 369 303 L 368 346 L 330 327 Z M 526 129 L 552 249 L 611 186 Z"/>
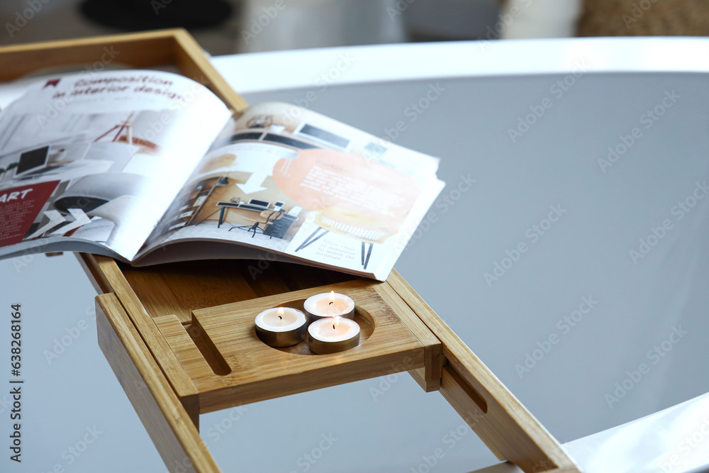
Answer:
<path fill-rule="evenodd" d="M 274 307 L 256 316 L 256 335 L 270 347 L 289 347 L 306 336 L 307 321 L 297 308 Z"/>

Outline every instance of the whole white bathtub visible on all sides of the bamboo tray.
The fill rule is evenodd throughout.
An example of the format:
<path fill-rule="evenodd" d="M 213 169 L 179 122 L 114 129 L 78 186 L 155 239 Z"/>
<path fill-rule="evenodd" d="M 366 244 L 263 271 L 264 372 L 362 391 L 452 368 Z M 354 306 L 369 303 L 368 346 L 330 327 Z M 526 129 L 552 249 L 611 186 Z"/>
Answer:
<path fill-rule="evenodd" d="M 678 455 L 671 471 L 686 472 L 709 464 L 709 439 L 689 454 L 680 445 L 702 432 L 693 421 L 709 418 L 706 398 L 655 413 L 709 391 L 709 199 L 681 220 L 673 213 L 709 178 L 708 52 L 705 40 L 563 40 L 215 63 L 251 102 L 298 101 L 379 136 L 401 121 L 396 143 L 440 156 L 447 187 L 398 271 L 586 471 L 662 471 Z M 411 106 L 419 101 L 421 113 Z M 508 128 L 540 106 L 513 143 Z M 608 146 L 632 137 L 656 106 L 664 114 L 604 173 Z M 467 179 L 475 182 L 465 190 Z M 671 228 L 635 264 L 629 251 L 665 220 Z M 0 301 L 23 304 L 28 344 L 26 458 L 2 460 L 7 471 L 164 472 L 96 345 L 92 291 L 73 257 L 0 261 L 0 272 Z M 656 345 L 664 356 L 649 353 Z M 3 399 L 0 432 L 9 432 Z M 71 454 L 94 427 L 96 441 Z M 405 374 L 204 415 L 201 433 L 225 472 L 498 463 L 439 394 Z"/>

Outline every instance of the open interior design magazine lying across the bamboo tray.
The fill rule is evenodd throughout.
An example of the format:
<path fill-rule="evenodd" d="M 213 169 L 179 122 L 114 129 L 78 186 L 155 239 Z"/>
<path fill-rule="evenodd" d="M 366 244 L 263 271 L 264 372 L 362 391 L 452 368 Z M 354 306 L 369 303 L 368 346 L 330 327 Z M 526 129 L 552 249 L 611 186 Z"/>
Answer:
<path fill-rule="evenodd" d="M 438 160 L 290 104 L 233 116 L 186 77 L 43 79 L 0 111 L 0 257 L 289 260 L 384 280 Z"/>

